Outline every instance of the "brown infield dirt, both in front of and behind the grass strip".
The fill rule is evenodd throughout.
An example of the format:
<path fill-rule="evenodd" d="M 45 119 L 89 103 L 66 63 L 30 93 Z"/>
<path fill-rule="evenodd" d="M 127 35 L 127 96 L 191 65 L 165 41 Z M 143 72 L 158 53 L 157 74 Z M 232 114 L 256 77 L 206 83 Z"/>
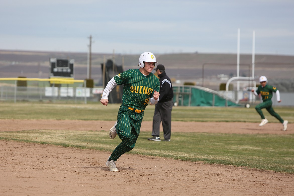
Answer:
<path fill-rule="evenodd" d="M 109 121 L 0 120 L 0 131 L 108 130 Z M 150 131 L 151 121 L 141 131 Z M 293 134 L 280 123 L 173 122 L 172 132 Z M 162 133 L 162 132 L 161 132 Z M 172 142 L 172 140 L 171 140 Z M 114 146 L 115 147 L 115 146 Z M 135 147 L 136 148 L 136 147 Z M 109 153 L 0 140 L 0 195 L 294 195 L 294 175 L 125 154 L 118 172 Z"/>

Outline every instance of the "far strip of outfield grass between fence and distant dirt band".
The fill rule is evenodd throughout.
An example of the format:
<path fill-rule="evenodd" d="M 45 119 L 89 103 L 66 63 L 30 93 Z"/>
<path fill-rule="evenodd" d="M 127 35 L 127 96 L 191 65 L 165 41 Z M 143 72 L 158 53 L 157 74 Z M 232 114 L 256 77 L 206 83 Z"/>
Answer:
<path fill-rule="evenodd" d="M 107 106 L 99 103 L 54 104 L 54 103 L 7 103 L 0 102 L 0 119 L 70 119 L 70 120 L 115 120 L 120 104 Z M 154 105 L 144 111 L 144 120 L 152 120 Z M 289 123 L 294 123 L 294 107 L 274 107 Z M 271 122 L 278 120 L 263 110 Z M 223 122 L 260 122 L 254 107 L 173 107 L 173 121 L 223 121 Z"/>

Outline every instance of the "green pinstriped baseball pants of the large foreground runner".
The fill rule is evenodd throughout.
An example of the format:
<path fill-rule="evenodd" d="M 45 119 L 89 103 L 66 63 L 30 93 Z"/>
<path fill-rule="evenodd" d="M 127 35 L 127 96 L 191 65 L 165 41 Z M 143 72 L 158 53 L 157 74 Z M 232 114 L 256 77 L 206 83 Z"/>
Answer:
<path fill-rule="evenodd" d="M 117 114 L 116 133 L 121 138 L 121 143 L 113 150 L 110 159 L 116 161 L 124 153 L 135 147 L 140 134 L 144 112 L 136 113 L 126 106 L 121 105 Z"/>

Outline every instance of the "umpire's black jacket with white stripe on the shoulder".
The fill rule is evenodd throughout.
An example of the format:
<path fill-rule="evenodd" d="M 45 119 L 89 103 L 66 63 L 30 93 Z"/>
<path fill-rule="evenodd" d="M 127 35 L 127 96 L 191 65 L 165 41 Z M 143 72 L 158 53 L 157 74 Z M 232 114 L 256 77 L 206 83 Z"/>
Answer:
<path fill-rule="evenodd" d="M 158 75 L 160 90 L 159 90 L 159 103 L 172 100 L 173 98 L 173 85 L 171 79 L 163 72 Z"/>

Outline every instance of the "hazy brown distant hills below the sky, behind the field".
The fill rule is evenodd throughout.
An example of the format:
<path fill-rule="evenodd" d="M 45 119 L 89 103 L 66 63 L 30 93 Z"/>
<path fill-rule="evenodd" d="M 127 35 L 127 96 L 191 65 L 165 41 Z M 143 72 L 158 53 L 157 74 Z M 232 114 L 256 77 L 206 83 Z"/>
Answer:
<path fill-rule="evenodd" d="M 217 53 L 168 53 L 155 54 L 156 61 L 166 67 L 166 73 L 173 82 L 193 82 L 218 90 L 220 83 L 236 76 L 237 54 Z M 91 78 L 96 85 L 102 84 L 101 63 L 103 59 L 113 60 L 123 69 L 138 68 L 140 54 L 92 53 Z M 70 58 L 75 60 L 75 79 L 87 77 L 87 53 L 49 51 L 5 51 L 0 50 L 0 77 L 48 78 L 49 58 Z M 240 76 L 251 76 L 251 54 L 240 54 Z M 294 91 L 294 56 L 255 55 L 255 81 L 265 75 L 272 83 L 284 82 Z M 285 86 L 285 85 L 283 85 Z M 281 88 L 283 88 L 281 86 Z M 287 85 L 286 85 L 287 86 Z M 293 86 L 293 87 L 292 87 Z M 285 87 L 284 87 L 285 88 Z"/>

